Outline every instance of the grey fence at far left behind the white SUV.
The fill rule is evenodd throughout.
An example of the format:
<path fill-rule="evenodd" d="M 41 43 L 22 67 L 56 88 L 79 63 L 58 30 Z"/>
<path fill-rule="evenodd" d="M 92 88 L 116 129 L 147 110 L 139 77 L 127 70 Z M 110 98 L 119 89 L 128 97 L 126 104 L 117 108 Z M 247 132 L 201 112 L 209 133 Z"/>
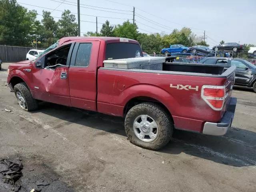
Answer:
<path fill-rule="evenodd" d="M 2 62 L 24 61 L 30 49 L 34 48 L 0 45 L 0 60 Z"/>

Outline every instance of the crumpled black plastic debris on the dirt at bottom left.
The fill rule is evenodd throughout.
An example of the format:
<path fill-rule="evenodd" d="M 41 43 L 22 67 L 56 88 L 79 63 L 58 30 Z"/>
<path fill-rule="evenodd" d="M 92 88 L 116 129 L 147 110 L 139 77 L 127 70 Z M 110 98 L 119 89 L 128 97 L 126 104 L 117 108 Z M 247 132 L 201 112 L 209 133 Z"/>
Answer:
<path fill-rule="evenodd" d="M 20 162 L 20 160 L 9 159 L 3 159 L 0 162 L 8 166 L 6 170 L 0 172 L 4 175 L 4 182 L 14 185 L 15 182 L 22 176 L 22 163 Z"/>

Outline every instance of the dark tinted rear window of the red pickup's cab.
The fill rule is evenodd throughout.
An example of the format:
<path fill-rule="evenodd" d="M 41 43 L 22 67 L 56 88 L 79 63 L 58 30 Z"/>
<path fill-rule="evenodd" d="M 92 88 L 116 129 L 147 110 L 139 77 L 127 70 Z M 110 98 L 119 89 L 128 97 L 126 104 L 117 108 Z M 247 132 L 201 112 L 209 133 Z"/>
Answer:
<path fill-rule="evenodd" d="M 109 43 L 106 48 L 106 60 L 143 57 L 139 44 Z"/>

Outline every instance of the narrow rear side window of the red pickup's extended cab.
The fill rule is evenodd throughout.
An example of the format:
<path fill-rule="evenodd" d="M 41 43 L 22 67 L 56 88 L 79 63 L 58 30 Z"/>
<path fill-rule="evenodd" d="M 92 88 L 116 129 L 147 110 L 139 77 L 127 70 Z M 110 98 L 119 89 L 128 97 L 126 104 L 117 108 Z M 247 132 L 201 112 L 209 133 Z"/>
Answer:
<path fill-rule="evenodd" d="M 88 67 L 92 51 L 91 43 L 80 43 L 76 54 L 75 66 Z"/>

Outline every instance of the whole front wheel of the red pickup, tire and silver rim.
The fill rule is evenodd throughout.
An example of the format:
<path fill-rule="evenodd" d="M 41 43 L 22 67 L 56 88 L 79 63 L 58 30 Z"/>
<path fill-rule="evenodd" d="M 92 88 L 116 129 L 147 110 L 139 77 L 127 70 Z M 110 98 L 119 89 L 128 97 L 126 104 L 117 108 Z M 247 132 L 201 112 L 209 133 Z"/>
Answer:
<path fill-rule="evenodd" d="M 20 107 L 25 111 L 32 111 L 38 108 L 37 101 L 32 97 L 32 94 L 26 83 L 18 83 L 14 86 L 14 93 Z"/>

